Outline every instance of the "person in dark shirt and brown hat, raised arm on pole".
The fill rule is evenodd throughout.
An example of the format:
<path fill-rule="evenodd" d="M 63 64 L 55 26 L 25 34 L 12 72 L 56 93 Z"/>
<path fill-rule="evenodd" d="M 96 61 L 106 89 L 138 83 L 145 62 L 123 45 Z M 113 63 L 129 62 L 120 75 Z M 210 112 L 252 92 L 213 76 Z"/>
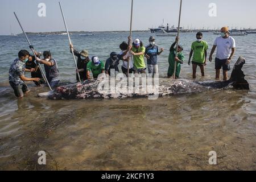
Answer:
<path fill-rule="evenodd" d="M 82 81 L 87 80 L 86 68 L 87 64 L 90 62 L 89 53 L 86 50 L 82 50 L 82 52 L 76 51 L 73 45 L 70 45 L 70 52 L 72 53 L 72 49 L 74 55 L 77 56 L 77 72 L 79 72 L 80 78 Z M 76 76 L 76 80 L 79 81 L 79 77 Z"/>

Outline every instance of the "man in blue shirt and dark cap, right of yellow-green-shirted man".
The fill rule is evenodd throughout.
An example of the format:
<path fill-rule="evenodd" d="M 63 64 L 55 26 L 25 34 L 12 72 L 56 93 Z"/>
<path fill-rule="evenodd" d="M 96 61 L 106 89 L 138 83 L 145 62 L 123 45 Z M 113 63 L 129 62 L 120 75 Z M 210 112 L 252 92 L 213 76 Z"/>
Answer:
<path fill-rule="evenodd" d="M 160 49 L 155 44 L 154 36 L 149 39 L 150 44 L 146 47 L 145 57 L 147 58 L 147 68 L 148 73 L 155 74 L 158 73 L 158 56 L 164 51 L 163 48 Z"/>

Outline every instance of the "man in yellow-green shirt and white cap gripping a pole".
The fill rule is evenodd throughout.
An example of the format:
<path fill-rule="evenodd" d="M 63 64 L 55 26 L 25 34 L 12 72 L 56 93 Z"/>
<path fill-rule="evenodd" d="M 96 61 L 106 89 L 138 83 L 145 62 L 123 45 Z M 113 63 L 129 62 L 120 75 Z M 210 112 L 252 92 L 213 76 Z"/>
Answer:
<path fill-rule="evenodd" d="M 144 54 L 146 48 L 139 39 L 135 39 L 133 47 L 131 47 L 131 54 L 133 55 L 134 69 L 136 73 L 146 73 L 146 64 L 144 62 Z"/>

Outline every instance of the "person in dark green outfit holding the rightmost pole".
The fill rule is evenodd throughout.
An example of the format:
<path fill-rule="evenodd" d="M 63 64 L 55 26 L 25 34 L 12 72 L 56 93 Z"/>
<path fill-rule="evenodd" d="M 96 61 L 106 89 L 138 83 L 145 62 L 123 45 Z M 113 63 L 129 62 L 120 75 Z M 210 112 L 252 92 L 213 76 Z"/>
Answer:
<path fill-rule="evenodd" d="M 174 65 L 175 61 L 177 62 L 176 64 L 176 73 L 175 73 L 175 78 L 179 78 L 180 76 L 180 70 L 181 70 L 181 64 L 184 63 L 184 55 L 182 53 L 183 47 L 178 46 L 178 53 L 176 57 L 176 48 L 174 46 L 177 44 L 177 41 L 179 40 L 179 37 L 176 37 L 175 42 L 172 44 L 170 48 L 170 54 L 169 54 L 169 68 L 168 68 L 168 78 L 171 78 L 174 76 Z"/>

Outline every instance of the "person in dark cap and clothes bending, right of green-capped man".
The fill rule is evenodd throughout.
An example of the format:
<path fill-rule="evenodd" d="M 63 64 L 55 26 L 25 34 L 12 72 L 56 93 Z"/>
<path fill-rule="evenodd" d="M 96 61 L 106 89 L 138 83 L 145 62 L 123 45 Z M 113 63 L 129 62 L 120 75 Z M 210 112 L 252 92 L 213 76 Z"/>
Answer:
<path fill-rule="evenodd" d="M 120 55 L 118 55 L 116 52 L 110 53 L 109 59 L 106 60 L 105 64 L 105 72 L 107 75 L 110 76 L 111 69 L 114 69 L 115 72 L 119 72 L 119 61 L 120 61 Z"/>

